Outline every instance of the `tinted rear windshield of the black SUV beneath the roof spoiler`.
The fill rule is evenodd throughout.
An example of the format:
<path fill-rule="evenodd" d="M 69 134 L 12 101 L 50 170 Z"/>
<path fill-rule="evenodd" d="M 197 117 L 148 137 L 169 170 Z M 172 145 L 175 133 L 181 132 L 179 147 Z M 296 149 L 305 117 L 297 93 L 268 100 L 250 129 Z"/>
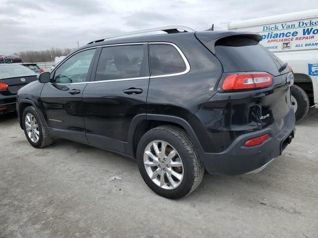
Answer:
<path fill-rule="evenodd" d="M 224 72 L 263 71 L 275 75 L 284 64 L 256 40 L 241 36 L 223 38 L 215 44 L 215 55 L 221 61 Z"/>

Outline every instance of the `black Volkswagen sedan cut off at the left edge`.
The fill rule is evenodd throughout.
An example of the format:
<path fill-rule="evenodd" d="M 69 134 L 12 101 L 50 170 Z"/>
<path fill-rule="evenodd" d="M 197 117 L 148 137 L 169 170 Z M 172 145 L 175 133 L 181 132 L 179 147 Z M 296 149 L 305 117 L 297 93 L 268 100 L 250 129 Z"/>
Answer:
<path fill-rule="evenodd" d="M 16 93 L 29 82 L 36 81 L 36 73 L 18 64 L 0 64 L 0 115 L 16 111 Z"/>

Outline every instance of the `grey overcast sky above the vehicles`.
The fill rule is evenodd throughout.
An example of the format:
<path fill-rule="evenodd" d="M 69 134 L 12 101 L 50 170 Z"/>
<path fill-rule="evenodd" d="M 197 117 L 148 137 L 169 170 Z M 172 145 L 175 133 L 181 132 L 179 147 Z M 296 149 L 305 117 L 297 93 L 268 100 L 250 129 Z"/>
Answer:
<path fill-rule="evenodd" d="M 313 0 L 2 0 L 0 55 L 77 48 L 121 32 L 169 25 L 227 29 L 229 21 L 315 8 Z M 317 7 L 317 6 L 316 6 Z"/>

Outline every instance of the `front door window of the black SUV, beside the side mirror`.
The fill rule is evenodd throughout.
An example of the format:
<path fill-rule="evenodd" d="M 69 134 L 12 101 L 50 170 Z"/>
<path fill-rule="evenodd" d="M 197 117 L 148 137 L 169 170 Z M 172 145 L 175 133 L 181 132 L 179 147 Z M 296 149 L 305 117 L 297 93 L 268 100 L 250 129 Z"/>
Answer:
<path fill-rule="evenodd" d="M 79 83 L 87 80 L 87 72 L 96 49 L 79 52 L 55 71 L 56 83 Z"/>

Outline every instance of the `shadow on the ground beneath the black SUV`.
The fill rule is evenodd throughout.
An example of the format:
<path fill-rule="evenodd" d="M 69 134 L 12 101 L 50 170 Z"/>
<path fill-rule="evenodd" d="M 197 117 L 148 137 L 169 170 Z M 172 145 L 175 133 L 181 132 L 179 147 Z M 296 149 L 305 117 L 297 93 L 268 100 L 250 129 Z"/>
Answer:
<path fill-rule="evenodd" d="M 122 175 L 124 177 L 130 177 L 131 181 L 134 181 L 131 184 L 132 187 L 134 186 L 136 181 L 141 182 L 140 185 L 144 187 L 139 191 L 140 193 L 152 193 L 152 195 L 150 196 L 158 196 L 155 193 L 151 192 L 150 188 L 148 188 L 147 185 L 140 178 L 137 163 L 134 159 L 66 139 L 56 139 L 55 143 L 52 146 L 59 151 L 68 149 L 69 153 L 70 151 L 73 151 L 72 153 L 79 156 L 80 153 L 89 154 L 89 158 L 85 157 L 85 155 L 82 155 L 85 163 L 89 161 L 89 163 L 96 166 L 98 165 L 105 168 L 121 168 L 120 170 L 122 171 L 129 171 L 128 174 Z M 279 162 L 279 164 L 282 164 L 282 162 Z M 283 164 L 285 164 L 285 162 L 283 162 Z M 276 165 L 274 161 L 273 165 L 269 165 L 267 168 L 265 168 L 265 170 L 261 171 L 258 174 L 251 175 L 215 176 L 205 174 L 199 187 L 194 190 L 189 196 L 178 199 L 178 201 L 182 201 L 185 204 L 191 204 L 193 202 L 199 201 L 211 202 L 215 199 L 221 201 L 224 197 L 227 196 L 232 196 L 232 198 L 238 198 L 239 196 L 245 197 L 244 199 L 249 199 L 248 196 L 253 197 L 253 193 L 255 193 L 255 191 L 259 191 L 260 194 L 262 194 L 265 193 L 266 190 L 271 190 L 273 188 L 272 185 L 277 186 L 274 185 L 274 179 L 268 179 L 268 174 L 277 173 L 277 171 L 275 171 Z M 114 170 L 116 171 L 116 169 Z M 278 183 L 276 182 L 276 184 Z M 131 192 L 132 194 L 134 194 L 133 191 Z M 140 194 L 138 194 L 138 196 L 139 195 Z M 171 201 L 173 203 L 173 200 L 168 199 L 168 201 Z M 257 202 L 257 204 L 259 204 L 259 202 Z"/>

